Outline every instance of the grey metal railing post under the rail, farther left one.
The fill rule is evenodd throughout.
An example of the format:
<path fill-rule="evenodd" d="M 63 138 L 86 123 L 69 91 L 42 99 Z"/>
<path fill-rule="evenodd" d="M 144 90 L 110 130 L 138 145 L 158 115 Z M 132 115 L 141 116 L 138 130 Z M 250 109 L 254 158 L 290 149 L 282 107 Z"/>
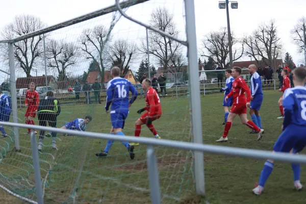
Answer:
<path fill-rule="evenodd" d="M 32 146 L 32 157 L 33 157 L 33 168 L 34 168 L 37 202 L 38 204 L 43 204 L 41 176 L 40 176 L 40 168 L 39 168 L 39 157 L 38 157 L 38 150 L 36 146 L 36 137 L 35 137 L 33 130 L 31 131 L 31 146 Z"/>

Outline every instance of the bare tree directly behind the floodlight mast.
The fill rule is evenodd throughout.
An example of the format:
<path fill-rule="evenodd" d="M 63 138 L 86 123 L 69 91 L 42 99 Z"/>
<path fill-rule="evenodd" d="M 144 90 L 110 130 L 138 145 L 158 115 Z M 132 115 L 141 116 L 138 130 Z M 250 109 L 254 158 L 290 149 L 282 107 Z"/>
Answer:
<path fill-rule="evenodd" d="M 216 64 L 221 64 L 222 68 L 228 67 L 230 65 L 229 57 L 229 47 L 228 47 L 228 37 L 227 29 L 220 28 L 219 31 L 210 32 L 202 40 L 204 49 L 202 50 L 203 56 L 211 57 Z M 236 48 L 236 45 L 240 43 L 239 39 L 235 38 L 234 33 L 232 33 L 232 47 L 233 47 L 233 62 L 240 59 L 243 55 L 243 43 L 240 43 L 241 48 Z"/>

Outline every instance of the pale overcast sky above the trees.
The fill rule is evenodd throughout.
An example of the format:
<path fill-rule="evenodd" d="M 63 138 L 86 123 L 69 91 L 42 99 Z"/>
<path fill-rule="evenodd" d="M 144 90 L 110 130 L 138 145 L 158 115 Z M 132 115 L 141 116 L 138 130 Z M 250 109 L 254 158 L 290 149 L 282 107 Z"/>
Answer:
<path fill-rule="evenodd" d="M 0 7 L 0 28 L 10 23 L 15 15 L 33 14 L 40 17 L 48 25 L 53 25 L 107 6 L 113 5 L 114 0 L 53 0 L 46 2 L 41 0 L 13 0 L 3 1 Z M 121 1 L 120 1 L 121 2 Z M 220 27 L 226 27 L 226 11 L 218 8 L 218 1 L 215 0 L 195 0 L 196 36 L 198 49 L 202 47 L 203 35 L 210 31 L 217 31 Z M 295 64 L 303 63 L 303 54 L 296 52 L 296 46 L 292 43 L 290 30 L 297 20 L 301 18 L 306 8 L 305 0 L 239 0 L 238 9 L 230 8 L 231 29 L 236 37 L 250 34 L 257 29 L 258 24 L 275 19 L 278 35 L 284 45 L 284 52 L 289 52 Z M 130 7 L 126 13 L 130 16 L 148 23 L 151 11 L 159 6 L 167 7 L 173 14 L 177 29 L 181 32 L 181 38 L 185 39 L 185 20 L 183 0 L 151 0 L 149 2 Z M 97 24 L 109 26 L 112 15 L 101 16 L 95 19 L 75 24 L 71 27 L 54 31 L 50 34 L 55 39 L 66 39 L 67 41 L 77 41 L 83 29 L 93 28 Z M 136 43 L 145 37 L 145 29 L 140 25 L 122 17 L 113 30 L 114 38 L 125 38 Z M 284 56 L 283 56 L 284 57 Z M 249 60 L 245 56 L 241 60 Z M 154 63 L 154 61 L 153 61 Z M 0 66 L 3 62 L 0 62 Z M 139 62 L 132 65 L 137 69 Z M 157 65 L 155 64 L 157 67 Z M 70 73 L 83 73 L 88 69 L 88 62 L 79 63 L 78 67 L 69 70 Z M 41 73 L 41 71 L 38 71 Z M 50 74 L 50 73 L 48 73 Z M 0 78 L 3 77 L 0 73 Z M 17 74 L 20 76 L 20 73 Z M 31 72 L 35 75 L 35 72 Z M 2 81 L 2 80 L 0 80 Z"/>

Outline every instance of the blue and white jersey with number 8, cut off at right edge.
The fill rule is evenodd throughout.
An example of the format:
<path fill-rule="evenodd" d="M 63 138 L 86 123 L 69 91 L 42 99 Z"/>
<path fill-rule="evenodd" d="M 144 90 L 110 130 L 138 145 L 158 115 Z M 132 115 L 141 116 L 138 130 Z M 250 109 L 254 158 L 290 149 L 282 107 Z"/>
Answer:
<path fill-rule="evenodd" d="M 285 111 L 291 112 L 290 124 L 306 126 L 306 88 L 305 87 L 296 86 L 294 88 L 286 89 L 283 97 L 283 106 Z"/>

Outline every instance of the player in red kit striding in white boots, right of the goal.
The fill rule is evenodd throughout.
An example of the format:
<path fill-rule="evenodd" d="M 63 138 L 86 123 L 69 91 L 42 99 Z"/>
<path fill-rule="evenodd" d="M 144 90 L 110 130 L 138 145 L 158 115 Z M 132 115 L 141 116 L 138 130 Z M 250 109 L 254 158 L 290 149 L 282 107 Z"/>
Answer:
<path fill-rule="evenodd" d="M 233 88 L 232 91 L 225 97 L 226 102 L 227 98 L 233 96 L 233 106 L 231 108 L 230 114 L 228 114 L 223 136 L 216 142 L 225 142 L 228 140 L 228 131 L 230 131 L 232 127 L 232 122 L 236 115 L 239 115 L 240 120 L 243 124 L 258 133 L 257 140 L 261 140 L 261 138 L 263 137 L 264 130 L 260 129 L 256 124 L 247 119 L 247 108 L 250 107 L 251 91 L 245 81 L 240 77 L 241 71 L 242 69 L 240 67 L 233 67 L 232 77 L 235 79 L 233 82 Z"/>

